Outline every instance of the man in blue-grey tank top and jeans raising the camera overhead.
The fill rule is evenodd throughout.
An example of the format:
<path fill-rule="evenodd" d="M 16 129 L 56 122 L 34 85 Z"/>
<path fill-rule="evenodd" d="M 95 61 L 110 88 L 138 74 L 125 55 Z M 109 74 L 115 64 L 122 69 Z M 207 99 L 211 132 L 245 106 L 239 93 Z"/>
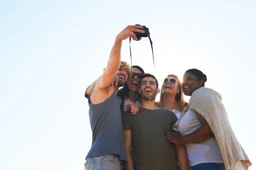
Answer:
<path fill-rule="evenodd" d="M 118 88 L 125 84 L 128 71 L 121 63 L 122 40 L 134 32 L 144 33 L 141 26 L 127 26 L 117 36 L 104 73 L 96 80 L 96 85 L 88 100 L 90 125 L 93 142 L 86 156 L 85 170 L 121 170 L 120 160 L 127 161 L 122 134 L 121 99 L 116 96 Z M 120 65 L 121 63 L 121 65 Z M 118 86 L 111 85 L 118 76 Z"/>

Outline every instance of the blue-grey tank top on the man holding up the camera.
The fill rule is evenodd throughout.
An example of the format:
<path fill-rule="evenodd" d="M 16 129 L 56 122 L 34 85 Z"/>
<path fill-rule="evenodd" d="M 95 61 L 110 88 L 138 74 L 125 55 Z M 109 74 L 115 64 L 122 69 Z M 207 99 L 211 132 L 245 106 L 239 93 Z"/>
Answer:
<path fill-rule="evenodd" d="M 127 161 L 122 132 L 121 99 L 113 94 L 104 102 L 93 105 L 88 100 L 93 142 L 87 158 L 116 154 Z"/>

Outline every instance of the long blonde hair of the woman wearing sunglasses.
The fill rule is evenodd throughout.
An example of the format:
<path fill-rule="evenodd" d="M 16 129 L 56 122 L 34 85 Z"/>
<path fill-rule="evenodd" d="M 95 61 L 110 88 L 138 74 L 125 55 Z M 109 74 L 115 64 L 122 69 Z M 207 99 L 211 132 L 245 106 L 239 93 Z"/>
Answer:
<path fill-rule="evenodd" d="M 182 112 L 183 109 L 185 108 L 185 105 L 186 105 L 186 101 L 184 99 L 184 93 L 181 89 L 181 83 L 180 83 L 180 79 L 179 77 L 177 77 L 175 74 L 169 74 L 167 77 L 169 76 L 172 76 L 172 77 L 175 77 L 177 79 L 177 87 L 180 89 L 180 92 L 176 94 L 175 96 L 175 100 L 176 100 L 176 106 L 175 108 Z M 164 107 L 163 106 L 163 92 L 162 92 L 162 87 L 161 87 L 161 93 L 160 93 L 160 100 L 158 101 L 158 103 L 160 103 L 162 105 L 162 108 Z"/>

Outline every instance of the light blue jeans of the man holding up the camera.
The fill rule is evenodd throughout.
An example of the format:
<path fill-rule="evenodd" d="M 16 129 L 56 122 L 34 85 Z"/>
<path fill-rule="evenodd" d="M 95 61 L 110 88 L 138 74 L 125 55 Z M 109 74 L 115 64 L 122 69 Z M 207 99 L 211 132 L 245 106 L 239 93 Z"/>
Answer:
<path fill-rule="evenodd" d="M 122 170 L 119 156 L 114 154 L 87 158 L 84 167 L 85 170 Z"/>

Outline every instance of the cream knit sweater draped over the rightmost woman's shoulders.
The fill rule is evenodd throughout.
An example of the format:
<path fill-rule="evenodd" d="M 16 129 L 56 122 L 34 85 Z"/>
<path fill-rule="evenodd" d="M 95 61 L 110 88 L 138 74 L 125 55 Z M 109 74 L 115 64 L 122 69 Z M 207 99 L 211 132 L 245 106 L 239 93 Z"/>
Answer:
<path fill-rule="evenodd" d="M 188 110 L 197 111 L 206 119 L 215 135 L 226 170 L 248 170 L 250 160 L 236 139 L 221 99 L 221 95 L 211 88 L 197 89 L 173 129 L 178 131 L 179 122 Z"/>

